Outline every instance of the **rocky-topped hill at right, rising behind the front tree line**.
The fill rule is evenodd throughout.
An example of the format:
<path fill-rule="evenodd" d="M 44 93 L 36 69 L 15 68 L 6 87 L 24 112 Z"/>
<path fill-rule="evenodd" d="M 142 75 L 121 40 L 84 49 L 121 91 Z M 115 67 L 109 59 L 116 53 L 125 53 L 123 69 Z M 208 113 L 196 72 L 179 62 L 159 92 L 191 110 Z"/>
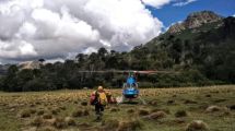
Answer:
<path fill-rule="evenodd" d="M 174 68 L 199 70 L 208 79 L 235 82 L 235 17 L 211 11 L 190 14 L 144 48 L 165 50 Z"/>

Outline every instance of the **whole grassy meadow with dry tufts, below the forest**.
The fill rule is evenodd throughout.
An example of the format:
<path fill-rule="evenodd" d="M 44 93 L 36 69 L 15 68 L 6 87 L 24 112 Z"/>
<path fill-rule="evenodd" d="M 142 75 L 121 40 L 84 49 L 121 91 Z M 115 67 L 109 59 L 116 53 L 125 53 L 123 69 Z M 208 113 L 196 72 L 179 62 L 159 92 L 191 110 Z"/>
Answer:
<path fill-rule="evenodd" d="M 235 131 L 235 85 L 140 90 L 146 105 L 108 105 L 98 122 L 92 92 L 0 93 L 0 131 Z"/>

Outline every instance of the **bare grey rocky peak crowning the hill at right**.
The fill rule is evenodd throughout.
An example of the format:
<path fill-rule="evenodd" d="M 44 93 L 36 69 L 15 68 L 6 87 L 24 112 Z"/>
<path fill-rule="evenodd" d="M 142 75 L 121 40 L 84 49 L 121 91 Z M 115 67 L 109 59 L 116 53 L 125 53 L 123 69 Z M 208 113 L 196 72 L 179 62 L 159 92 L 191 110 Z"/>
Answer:
<path fill-rule="evenodd" d="M 223 16 L 220 16 L 212 11 L 195 12 L 189 14 L 184 22 L 172 25 L 167 32 L 179 33 L 184 29 L 196 28 L 203 24 L 221 21 L 222 19 Z"/>

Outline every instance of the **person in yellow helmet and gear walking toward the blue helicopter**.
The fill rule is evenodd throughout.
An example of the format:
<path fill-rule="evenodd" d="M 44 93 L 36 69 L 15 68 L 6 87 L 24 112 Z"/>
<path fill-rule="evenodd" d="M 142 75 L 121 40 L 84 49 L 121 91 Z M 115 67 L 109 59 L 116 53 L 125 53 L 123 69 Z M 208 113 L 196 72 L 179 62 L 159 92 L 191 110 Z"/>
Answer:
<path fill-rule="evenodd" d="M 93 99 L 92 99 L 93 97 Z M 103 86 L 98 86 L 91 95 L 91 105 L 95 106 L 96 120 L 101 120 L 105 106 L 107 105 L 107 97 Z"/>

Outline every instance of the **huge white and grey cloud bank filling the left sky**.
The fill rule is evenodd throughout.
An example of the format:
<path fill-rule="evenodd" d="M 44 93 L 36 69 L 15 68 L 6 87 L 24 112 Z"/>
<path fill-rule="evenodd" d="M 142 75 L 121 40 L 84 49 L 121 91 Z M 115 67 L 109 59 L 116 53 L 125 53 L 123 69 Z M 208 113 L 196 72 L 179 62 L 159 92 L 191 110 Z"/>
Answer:
<path fill-rule="evenodd" d="M 140 0 L 4 0 L 0 1 L 0 62 L 64 59 L 99 47 L 126 51 L 162 28 Z"/>

